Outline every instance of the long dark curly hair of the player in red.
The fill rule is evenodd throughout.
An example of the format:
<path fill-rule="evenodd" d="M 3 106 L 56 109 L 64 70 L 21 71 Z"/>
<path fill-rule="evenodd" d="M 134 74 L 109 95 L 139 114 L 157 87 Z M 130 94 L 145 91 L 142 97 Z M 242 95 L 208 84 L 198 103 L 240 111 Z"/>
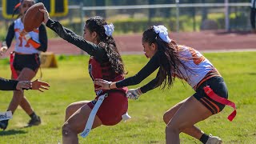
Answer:
<path fill-rule="evenodd" d="M 98 34 L 98 46 L 106 50 L 106 55 L 109 58 L 109 62 L 111 63 L 111 67 L 114 72 L 117 74 L 126 74 L 125 67 L 114 42 L 114 38 L 111 35 L 107 36 L 105 34 L 104 25 L 106 24 L 107 23 L 104 18 L 96 16 L 89 18 L 86 21 L 86 28 L 88 28 L 90 32 L 95 31 Z"/>

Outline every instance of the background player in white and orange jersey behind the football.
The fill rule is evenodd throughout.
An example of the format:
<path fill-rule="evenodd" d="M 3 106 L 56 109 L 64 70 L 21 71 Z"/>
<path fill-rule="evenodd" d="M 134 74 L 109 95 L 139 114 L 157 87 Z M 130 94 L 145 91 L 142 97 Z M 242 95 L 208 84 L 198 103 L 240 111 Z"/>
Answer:
<path fill-rule="evenodd" d="M 11 42 L 15 37 L 14 52 L 10 55 L 10 68 L 12 79 L 18 81 L 30 81 L 38 72 L 40 67 L 39 53 L 47 49 L 46 27 L 41 25 L 37 29 L 27 33 L 24 30 L 24 15 L 26 10 L 35 4 L 34 0 L 21 0 L 14 10 L 19 10 L 18 18 L 11 23 L 6 35 L 6 40 L 2 42 L 0 54 L 10 48 Z M 41 123 L 40 117 L 35 114 L 30 102 L 24 95 L 23 90 L 14 90 L 14 96 L 7 110 L 13 114 L 18 106 L 21 106 L 26 114 L 30 116 L 28 126 L 36 126 Z M 5 130 L 8 120 L 0 122 L 0 128 Z"/>

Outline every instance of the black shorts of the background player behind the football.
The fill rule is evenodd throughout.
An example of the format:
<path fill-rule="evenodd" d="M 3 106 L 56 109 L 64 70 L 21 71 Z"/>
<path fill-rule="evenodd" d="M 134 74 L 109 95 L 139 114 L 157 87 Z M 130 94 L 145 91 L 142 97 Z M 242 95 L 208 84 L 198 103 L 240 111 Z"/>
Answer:
<path fill-rule="evenodd" d="M 22 71 L 24 68 L 36 71 L 40 66 L 40 58 L 38 54 L 17 54 L 14 56 L 14 69 Z"/>

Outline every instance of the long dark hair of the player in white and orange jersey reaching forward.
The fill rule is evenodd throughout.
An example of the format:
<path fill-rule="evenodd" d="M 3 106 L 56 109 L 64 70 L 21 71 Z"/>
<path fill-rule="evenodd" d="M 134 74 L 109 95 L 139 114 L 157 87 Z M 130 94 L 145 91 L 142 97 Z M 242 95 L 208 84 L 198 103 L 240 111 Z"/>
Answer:
<path fill-rule="evenodd" d="M 185 78 L 178 68 L 178 66 L 184 66 L 184 64 L 181 62 L 181 58 L 178 56 L 178 45 L 176 42 L 173 40 L 171 40 L 171 42 L 163 41 L 162 38 L 159 37 L 159 34 L 155 33 L 153 26 L 144 31 L 142 42 L 147 42 L 150 45 L 152 43 L 157 45 L 158 52 L 162 53 L 164 59 L 166 59 L 165 61 L 162 59 L 158 61 L 160 62 L 160 67 L 157 75 L 157 86 L 162 85 L 162 89 L 164 89 L 166 86 L 168 88 L 172 86 L 175 78 L 173 74 L 180 74 L 183 78 Z"/>

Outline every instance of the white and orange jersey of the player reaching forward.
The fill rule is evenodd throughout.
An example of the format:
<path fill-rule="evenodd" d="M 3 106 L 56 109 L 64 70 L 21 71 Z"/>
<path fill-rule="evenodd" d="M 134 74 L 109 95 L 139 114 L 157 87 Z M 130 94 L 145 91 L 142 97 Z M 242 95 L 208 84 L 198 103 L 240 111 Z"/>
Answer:
<path fill-rule="evenodd" d="M 179 45 L 178 55 L 184 66 L 178 66 L 182 74 L 176 72 L 174 76 L 184 79 L 194 89 L 199 82 L 202 82 L 203 78 L 206 78 L 206 74 L 209 74 L 209 72 L 213 73 L 207 79 L 216 75 L 220 76 L 218 70 L 198 50 Z"/>

